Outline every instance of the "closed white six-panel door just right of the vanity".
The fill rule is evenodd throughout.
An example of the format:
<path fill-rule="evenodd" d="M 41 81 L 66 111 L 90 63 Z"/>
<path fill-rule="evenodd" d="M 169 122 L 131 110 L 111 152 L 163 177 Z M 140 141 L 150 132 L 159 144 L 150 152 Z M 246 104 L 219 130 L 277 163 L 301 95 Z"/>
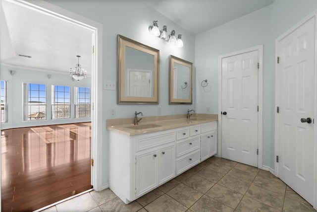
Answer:
<path fill-rule="evenodd" d="M 258 166 L 258 51 L 222 59 L 222 157 Z"/>

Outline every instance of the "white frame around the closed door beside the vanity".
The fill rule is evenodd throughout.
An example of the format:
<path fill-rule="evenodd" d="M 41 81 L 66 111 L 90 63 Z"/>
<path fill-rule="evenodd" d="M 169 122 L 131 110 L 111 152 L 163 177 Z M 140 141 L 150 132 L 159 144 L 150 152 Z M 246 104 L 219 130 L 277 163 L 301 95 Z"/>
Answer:
<path fill-rule="evenodd" d="M 218 156 L 222 156 L 222 59 L 232 57 L 235 55 L 241 55 L 248 52 L 258 51 L 259 58 L 259 72 L 258 72 L 258 168 L 267 169 L 262 166 L 263 161 L 263 45 L 251 47 L 248 49 L 243 49 L 236 52 L 231 52 L 225 55 L 220 55 L 218 57 Z"/>

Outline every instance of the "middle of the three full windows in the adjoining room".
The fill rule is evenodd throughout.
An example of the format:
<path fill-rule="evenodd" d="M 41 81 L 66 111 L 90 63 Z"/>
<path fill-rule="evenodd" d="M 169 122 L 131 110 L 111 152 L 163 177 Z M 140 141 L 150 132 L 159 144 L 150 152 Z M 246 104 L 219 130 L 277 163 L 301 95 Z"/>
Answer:
<path fill-rule="evenodd" d="M 52 85 L 52 119 L 70 118 L 70 86 Z"/>

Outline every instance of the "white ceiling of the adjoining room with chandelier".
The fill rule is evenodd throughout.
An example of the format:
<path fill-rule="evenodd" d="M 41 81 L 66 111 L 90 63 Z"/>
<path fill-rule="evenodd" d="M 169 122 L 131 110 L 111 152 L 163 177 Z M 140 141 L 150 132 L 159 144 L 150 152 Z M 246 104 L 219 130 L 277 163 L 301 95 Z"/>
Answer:
<path fill-rule="evenodd" d="M 82 68 L 91 75 L 92 31 L 5 0 L 1 3 L 2 63 L 69 72 L 79 55 Z"/>

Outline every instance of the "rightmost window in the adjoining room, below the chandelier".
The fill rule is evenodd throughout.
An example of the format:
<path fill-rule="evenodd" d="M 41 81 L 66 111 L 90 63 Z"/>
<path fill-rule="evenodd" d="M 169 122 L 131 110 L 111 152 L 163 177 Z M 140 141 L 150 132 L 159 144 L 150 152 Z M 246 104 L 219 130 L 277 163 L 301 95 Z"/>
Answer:
<path fill-rule="evenodd" d="M 75 87 L 76 118 L 90 117 L 90 87 Z"/>

